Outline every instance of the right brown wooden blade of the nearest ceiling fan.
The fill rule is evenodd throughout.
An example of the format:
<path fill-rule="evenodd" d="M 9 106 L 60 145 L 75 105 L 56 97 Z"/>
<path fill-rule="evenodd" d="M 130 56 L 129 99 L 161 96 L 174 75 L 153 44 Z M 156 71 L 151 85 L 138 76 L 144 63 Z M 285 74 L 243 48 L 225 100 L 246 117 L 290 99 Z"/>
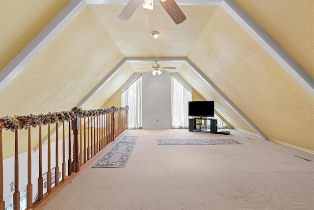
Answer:
<path fill-rule="evenodd" d="M 186 19 L 185 15 L 183 14 L 183 11 L 180 9 L 175 0 L 166 1 L 159 0 L 159 3 L 166 10 L 166 12 L 170 15 L 170 17 L 176 24 L 180 24 Z"/>

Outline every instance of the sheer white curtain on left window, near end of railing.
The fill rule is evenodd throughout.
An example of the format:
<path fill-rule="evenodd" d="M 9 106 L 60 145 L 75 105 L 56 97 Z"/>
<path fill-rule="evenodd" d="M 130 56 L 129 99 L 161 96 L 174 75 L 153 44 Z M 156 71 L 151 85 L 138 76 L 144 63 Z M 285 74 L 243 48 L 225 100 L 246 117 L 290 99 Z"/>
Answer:
<path fill-rule="evenodd" d="M 122 92 L 122 106 L 129 106 L 128 128 L 142 129 L 142 76 Z"/>

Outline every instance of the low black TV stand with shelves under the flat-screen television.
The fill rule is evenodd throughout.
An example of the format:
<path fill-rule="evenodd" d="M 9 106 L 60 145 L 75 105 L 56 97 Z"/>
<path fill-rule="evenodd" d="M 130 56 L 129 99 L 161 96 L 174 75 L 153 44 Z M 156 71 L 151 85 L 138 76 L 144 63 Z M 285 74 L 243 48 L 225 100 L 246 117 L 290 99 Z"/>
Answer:
<path fill-rule="evenodd" d="M 229 135 L 230 131 L 218 131 L 217 130 L 217 119 L 210 118 L 193 118 L 188 119 L 188 131 L 200 131 L 200 132 L 208 132 L 208 133 L 216 133 L 216 134 L 224 134 Z"/>

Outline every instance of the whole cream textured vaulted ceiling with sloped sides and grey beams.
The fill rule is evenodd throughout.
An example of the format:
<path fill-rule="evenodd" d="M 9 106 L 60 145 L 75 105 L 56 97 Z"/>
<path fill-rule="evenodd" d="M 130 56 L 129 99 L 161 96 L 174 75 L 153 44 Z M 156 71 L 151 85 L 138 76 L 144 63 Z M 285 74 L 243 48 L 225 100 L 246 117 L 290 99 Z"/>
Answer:
<path fill-rule="evenodd" d="M 179 25 L 127 2 L 1 0 L 0 116 L 100 108 L 158 60 L 233 127 L 314 151 L 314 1 L 176 0 Z"/>

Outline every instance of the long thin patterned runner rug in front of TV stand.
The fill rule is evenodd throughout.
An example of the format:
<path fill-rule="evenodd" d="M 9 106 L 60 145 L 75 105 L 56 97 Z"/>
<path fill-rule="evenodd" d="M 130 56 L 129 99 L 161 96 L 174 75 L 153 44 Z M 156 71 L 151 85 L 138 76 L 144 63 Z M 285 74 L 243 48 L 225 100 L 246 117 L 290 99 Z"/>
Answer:
<path fill-rule="evenodd" d="M 231 145 L 242 144 L 234 139 L 158 139 L 157 145 Z"/>

